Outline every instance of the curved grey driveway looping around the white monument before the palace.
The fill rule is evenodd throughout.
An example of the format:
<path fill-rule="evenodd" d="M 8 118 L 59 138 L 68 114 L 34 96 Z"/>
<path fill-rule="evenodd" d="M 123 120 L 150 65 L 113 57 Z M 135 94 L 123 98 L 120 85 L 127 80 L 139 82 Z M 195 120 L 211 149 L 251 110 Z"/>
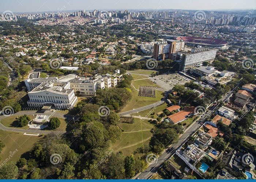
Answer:
<path fill-rule="evenodd" d="M 49 111 L 46 111 L 44 113 L 41 113 L 41 112 L 38 112 L 38 111 L 25 111 L 25 112 L 17 112 L 13 115 L 24 115 L 24 114 L 27 114 L 27 115 L 37 115 L 37 114 L 45 114 L 45 115 L 53 115 L 53 116 L 56 116 L 56 117 L 60 117 L 60 118 L 65 118 L 65 119 L 68 119 L 70 120 L 71 122 L 73 122 L 73 117 L 72 115 L 68 115 L 68 114 L 61 114 L 61 113 L 57 113 L 57 112 L 49 112 Z M 0 116 L 0 129 L 1 130 L 5 130 L 5 131 L 15 131 L 15 132 L 30 132 L 30 133 L 37 133 L 37 134 L 64 134 L 66 131 L 47 131 L 47 130 L 41 130 L 41 129 L 20 129 L 20 128 L 10 128 L 10 127 L 6 127 L 4 126 L 2 123 L 1 123 L 1 120 L 6 118 L 6 116 L 4 115 L 1 115 Z M 77 118 L 75 118 L 76 120 Z"/>

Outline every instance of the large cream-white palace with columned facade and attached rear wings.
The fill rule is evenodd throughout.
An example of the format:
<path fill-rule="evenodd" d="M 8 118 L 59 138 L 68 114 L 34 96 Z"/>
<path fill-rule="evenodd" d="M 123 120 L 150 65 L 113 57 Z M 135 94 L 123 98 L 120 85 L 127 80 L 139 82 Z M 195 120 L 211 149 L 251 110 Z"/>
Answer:
<path fill-rule="evenodd" d="M 70 109 L 78 102 L 76 94 L 82 96 L 95 96 L 97 89 L 116 87 L 121 82 L 120 71 L 113 74 L 95 75 L 79 78 L 75 74 L 57 77 L 39 78 L 40 72 L 29 75 L 25 80 L 28 90 L 29 107 L 55 106 L 56 108 Z"/>

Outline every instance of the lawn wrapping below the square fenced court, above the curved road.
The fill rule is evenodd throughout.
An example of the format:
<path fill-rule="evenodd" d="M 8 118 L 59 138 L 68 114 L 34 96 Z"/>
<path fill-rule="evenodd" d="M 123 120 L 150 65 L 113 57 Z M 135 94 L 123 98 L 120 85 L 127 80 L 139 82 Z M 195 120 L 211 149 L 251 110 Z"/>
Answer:
<path fill-rule="evenodd" d="M 150 104 L 154 104 L 156 102 L 159 102 L 161 98 L 163 98 L 162 91 L 155 91 L 156 97 L 144 97 L 144 96 L 138 96 L 139 91 L 136 91 L 134 88 L 132 88 L 132 100 L 124 106 L 124 108 L 120 112 L 130 111 L 135 108 L 140 108 L 143 106 L 147 106 Z"/>

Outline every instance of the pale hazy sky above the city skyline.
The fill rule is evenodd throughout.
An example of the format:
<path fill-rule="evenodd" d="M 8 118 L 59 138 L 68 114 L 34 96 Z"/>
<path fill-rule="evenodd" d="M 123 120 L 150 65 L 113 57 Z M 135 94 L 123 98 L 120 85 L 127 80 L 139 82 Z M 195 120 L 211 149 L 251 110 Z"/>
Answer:
<path fill-rule="evenodd" d="M 253 9 L 256 0 L 0 0 L 0 12 L 74 9 Z"/>

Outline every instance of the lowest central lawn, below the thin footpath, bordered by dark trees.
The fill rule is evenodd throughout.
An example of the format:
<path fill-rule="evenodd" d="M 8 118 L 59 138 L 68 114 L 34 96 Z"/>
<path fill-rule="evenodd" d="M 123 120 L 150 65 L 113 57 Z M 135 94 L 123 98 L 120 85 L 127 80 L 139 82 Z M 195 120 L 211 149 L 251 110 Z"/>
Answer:
<path fill-rule="evenodd" d="M 116 151 L 120 151 L 120 150 L 125 151 L 129 147 L 125 149 L 121 149 L 121 148 L 130 146 L 130 145 L 139 145 L 139 143 L 142 142 L 143 139 L 147 139 L 151 136 L 152 136 L 152 133 L 150 131 L 137 131 L 137 132 L 123 133 L 121 139 L 118 140 L 112 146 L 112 149 Z"/>

